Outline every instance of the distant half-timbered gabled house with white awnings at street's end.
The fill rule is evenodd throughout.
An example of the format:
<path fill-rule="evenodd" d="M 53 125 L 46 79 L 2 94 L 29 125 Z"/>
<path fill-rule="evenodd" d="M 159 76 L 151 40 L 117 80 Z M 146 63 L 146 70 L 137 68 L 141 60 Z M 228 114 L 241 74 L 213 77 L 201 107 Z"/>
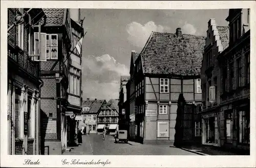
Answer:
<path fill-rule="evenodd" d="M 99 113 L 97 114 L 97 129 L 99 126 L 104 125 L 109 129 L 110 125 L 117 125 L 119 119 L 118 99 L 111 99 L 108 103 L 104 104 Z"/>

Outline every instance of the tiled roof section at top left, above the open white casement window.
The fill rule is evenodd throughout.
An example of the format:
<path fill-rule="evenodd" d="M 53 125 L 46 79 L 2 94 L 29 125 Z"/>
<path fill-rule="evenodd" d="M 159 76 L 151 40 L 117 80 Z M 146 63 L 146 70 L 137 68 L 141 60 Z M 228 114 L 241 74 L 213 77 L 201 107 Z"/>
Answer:
<path fill-rule="evenodd" d="M 46 26 L 61 26 L 63 25 L 65 9 L 58 8 L 43 8 L 46 14 Z"/>

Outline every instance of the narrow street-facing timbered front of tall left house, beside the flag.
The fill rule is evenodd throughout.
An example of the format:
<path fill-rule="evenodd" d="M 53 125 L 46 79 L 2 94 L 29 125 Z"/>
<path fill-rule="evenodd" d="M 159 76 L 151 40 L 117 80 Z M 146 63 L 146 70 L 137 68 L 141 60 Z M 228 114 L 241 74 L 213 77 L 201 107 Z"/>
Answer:
<path fill-rule="evenodd" d="M 76 49 L 76 44 L 83 36 L 82 20 L 80 19 L 80 9 L 70 9 L 71 21 L 71 48 L 68 58 L 69 69 L 69 88 L 68 88 L 68 101 L 69 105 L 67 110 L 73 112 L 76 116 L 81 115 L 81 75 L 82 75 L 82 51 L 79 53 Z M 79 120 L 76 120 L 78 119 Z M 82 117 L 74 119 L 67 117 L 67 138 L 69 143 L 74 142 L 77 128 L 82 123 Z"/>

